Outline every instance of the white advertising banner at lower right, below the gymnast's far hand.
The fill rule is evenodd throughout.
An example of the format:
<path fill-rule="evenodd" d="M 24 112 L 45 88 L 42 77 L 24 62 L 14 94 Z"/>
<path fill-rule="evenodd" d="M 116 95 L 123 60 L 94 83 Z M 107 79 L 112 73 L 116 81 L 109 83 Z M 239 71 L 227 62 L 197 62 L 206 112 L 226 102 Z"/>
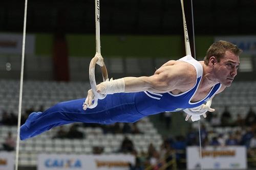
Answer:
<path fill-rule="evenodd" d="M 246 169 L 246 148 L 234 147 L 205 147 L 202 148 L 200 160 L 199 147 L 187 147 L 187 169 Z M 201 162 L 201 163 L 200 163 Z"/>

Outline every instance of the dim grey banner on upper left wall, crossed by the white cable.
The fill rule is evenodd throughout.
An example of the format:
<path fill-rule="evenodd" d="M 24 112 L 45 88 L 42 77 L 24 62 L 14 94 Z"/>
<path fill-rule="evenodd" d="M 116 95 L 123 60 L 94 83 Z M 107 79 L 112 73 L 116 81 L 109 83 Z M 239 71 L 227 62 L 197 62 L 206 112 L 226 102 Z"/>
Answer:
<path fill-rule="evenodd" d="M 22 34 L 0 33 L 0 54 L 22 54 Z M 25 54 L 34 54 L 35 36 L 26 35 Z"/>

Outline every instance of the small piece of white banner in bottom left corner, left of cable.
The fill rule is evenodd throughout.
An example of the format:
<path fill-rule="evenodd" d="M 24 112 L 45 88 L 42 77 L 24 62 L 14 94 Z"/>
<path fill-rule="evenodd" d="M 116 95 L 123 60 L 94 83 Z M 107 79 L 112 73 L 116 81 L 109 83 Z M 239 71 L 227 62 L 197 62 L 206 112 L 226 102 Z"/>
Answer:
<path fill-rule="evenodd" d="M 0 170 L 14 169 L 14 154 L 11 152 L 0 152 Z"/>

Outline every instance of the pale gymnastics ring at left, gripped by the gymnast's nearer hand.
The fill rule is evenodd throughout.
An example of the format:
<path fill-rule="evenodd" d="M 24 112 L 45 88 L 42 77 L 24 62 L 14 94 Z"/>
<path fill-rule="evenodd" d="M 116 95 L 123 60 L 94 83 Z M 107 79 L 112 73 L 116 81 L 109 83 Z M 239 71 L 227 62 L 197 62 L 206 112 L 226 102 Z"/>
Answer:
<path fill-rule="evenodd" d="M 95 81 L 95 65 L 96 64 L 100 66 L 103 82 L 109 79 L 108 71 L 106 70 L 103 57 L 101 56 L 101 54 L 96 53 L 94 58 L 92 58 L 89 66 L 89 79 L 90 79 L 91 88 L 94 94 L 94 103 L 91 106 L 88 106 L 88 108 L 90 109 L 95 108 L 97 106 L 98 99 L 104 99 L 106 96 L 106 94 L 97 93 L 96 81 Z"/>

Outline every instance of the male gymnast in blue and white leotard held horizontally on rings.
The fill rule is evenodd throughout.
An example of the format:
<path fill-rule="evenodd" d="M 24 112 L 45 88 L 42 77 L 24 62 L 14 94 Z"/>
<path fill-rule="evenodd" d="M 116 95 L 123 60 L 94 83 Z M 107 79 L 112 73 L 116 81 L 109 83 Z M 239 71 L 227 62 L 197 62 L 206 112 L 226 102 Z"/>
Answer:
<path fill-rule="evenodd" d="M 20 127 L 20 139 L 36 136 L 53 127 L 75 123 L 133 123 L 151 114 L 184 110 L 193 121 L 210 108 L 215 94 L 229 87 L 237 75 L 241 50 L 227 41 L 213 43 L 204 58 L 190 55 L 163 64 L 150 77 L 125 77 L 98 84 L 97 92 L 107 94 L 90 109 L 94 94 L 85 99 L 61 102 L 44 112 L 33 112 Z M 205 117 L 205 116 L 204 116 Z"/>

